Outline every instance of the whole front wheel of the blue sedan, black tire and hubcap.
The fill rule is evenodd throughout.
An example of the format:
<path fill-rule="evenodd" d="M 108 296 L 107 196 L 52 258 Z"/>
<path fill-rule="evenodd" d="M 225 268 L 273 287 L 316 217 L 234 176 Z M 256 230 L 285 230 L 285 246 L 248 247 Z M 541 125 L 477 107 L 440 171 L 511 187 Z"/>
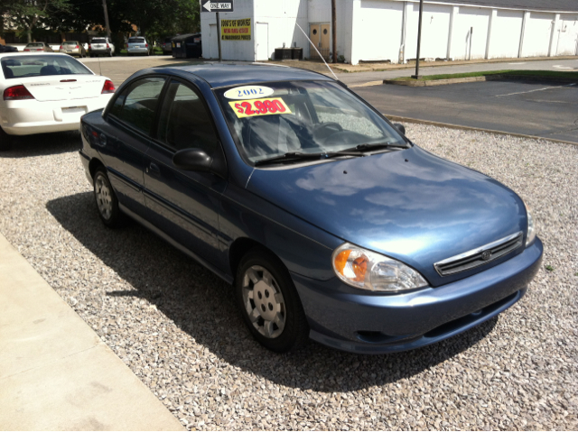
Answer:
<path fill-rule="evenodd" d="M 260 248 L 249 251 L 238 265 L 235 291 L 241 316 L 259 344 L 286 353 L 308 340 L 309 325 L 299 294 L 289 271 L 273 253 Z"/>

